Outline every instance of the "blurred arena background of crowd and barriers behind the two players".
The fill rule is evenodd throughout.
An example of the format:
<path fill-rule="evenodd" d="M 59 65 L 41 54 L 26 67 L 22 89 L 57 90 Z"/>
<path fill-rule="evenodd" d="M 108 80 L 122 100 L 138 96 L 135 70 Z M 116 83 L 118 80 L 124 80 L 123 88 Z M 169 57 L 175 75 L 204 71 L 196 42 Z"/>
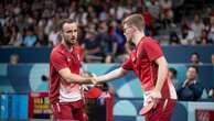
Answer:
<path fill-rule="evenodd" d="M 161 0 L 154 1 L 161 4 Z M 118 67 L 122 62 L 116 59 L 121 53 L 126 54 L 124 45 L 126 41 L 121 35 L 120 22 L 127 14 L 138 12 L 147 16 L 146 33 L 160 42 L 169 66 L 178 70 L 178 80 L 185 79 L 186 67 L 191 64 L 191 54 L 200 55 L 197 79 L 204 88 L 203 95 L 197 101 L 179 101 L 171 121 L 214 121 L 214 95 L 208 94 L 210 89 L 214 89 L 214 63 L 211 61 L 214 54 L 214 1 L 169 1 L 172 3 L 170 8 L 172 18 L 164 16 L 164 11 L 161 10 L 164 3 L 162 3 L 163 8 L 159 8 L 158 16 L 148 15 L 152 12 L 150 0 L 1 0 L 0 120 L 50 120 L 49 57 L 58 38 L 54 37 L 54 41 L 50 35 L 55 35 L 53 32 L 56 21 L 62 18 L 75 18 L 79 21 L 81 45 L 86 44 L 88 33 L 99 36 L 104 32 L 105 35 L 110 36 L 109 40 L 114 36 L 115 40 L 110 41 L 98 38 L 104 41 L 99 46 L 103 54 L 111 55 L 111 44 L 117 44 L 117 52 L 114 53 L 113 58 L 115 61 L 108 63 L 105 58 L 89 63 L 83 61 L 85 72 L 101 75 Z M 197 31 L 191 29 L 195 14 L 199 14 L 202 20 L 204 36 L 197 36 Z M 114 31 L 111 22 L 117 23 L 115 29 L 117 31 Z M 104 31 L 106 28 L 107 30 Z M 182 29 L 194 33 L 190 43 L 182 43 Z M 33 41 L 30 43 L 24 41 L 28 40 L 28 32 L 33 33 L 31 33 Z M 200 33 L 200 35 L 203 34 Z M 174 40 L 174 36 L 178 38 Z M 109 42 L 105 41 L 109 41 L 110 45 L 106 46 Z M 87 48 L 83 50 L 87 51 Z M 11 63 L 13 55 L 18 55 L 15 64 Z M 108 98 L 88 101 L 87 111 L 90 121 L 145 120 L 139 116 L 143 92 L 133 73 L 108 82 L 108 86 L 107 94 L 110 94 Z"/>

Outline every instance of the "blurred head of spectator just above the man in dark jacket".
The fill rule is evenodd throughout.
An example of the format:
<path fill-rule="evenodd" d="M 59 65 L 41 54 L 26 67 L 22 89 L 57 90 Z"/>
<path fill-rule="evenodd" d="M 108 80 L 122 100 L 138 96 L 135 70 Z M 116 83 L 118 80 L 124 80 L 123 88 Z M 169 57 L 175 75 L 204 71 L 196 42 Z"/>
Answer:
<path fill-rule="evenodd" d="M 197 66 L 202 65 L 203 63 L 200 62 L 200 54 L 194 52 L 190 55 L 190 65 Z"/>

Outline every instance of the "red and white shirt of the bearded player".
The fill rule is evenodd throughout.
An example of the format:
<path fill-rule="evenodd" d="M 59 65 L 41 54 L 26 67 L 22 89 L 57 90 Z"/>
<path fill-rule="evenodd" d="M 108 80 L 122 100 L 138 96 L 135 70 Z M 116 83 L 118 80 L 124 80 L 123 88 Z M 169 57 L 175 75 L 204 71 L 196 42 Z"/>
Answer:
<path fill-rule="evenodd" d="M 65 45 L 61 43 L 53 48 L 50 57 L 49 97 L 51 103 L 55 103 L 61 100 L 60 98 L 63 97 L 62 91 L 65 91 L 63 94 L 65 96 L 67 95 L 66 97 L 68 97 L 72 91 L 73 94 L 76 92 L 77 95 L 81 95 L 78 84 L 66 82 L 58 74 L 58 70 L 66 67 L 68 67 L 73 74 L 79 74 L 79 55 L 76 51 L 76 47 L 73 47 L 72 51 L 68 51 Z"/>

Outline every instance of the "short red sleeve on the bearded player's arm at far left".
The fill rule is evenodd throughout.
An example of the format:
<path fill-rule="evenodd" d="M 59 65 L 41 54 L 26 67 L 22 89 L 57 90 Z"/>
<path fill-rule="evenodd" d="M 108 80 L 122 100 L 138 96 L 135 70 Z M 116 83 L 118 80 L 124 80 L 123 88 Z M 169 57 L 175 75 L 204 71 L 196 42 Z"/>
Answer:
<path fill-rule="evenodd" d="M 53 52 L 51 54 L 51 63 L 57 72 L 68 67 L 66 56 L 64 56 L 63 53 L 60 52 Z"/>

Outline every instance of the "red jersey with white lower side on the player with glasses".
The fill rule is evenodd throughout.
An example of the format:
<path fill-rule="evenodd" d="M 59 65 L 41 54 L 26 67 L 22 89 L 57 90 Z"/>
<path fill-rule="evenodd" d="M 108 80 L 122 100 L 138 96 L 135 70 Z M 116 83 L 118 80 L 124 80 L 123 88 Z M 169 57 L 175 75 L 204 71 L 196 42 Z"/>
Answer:
<path fill-rule="evenodd" d="M 136 50 L 133 50 L 129 55 L 129 58 L 122 64 L 122 68 L 133 70 L 140 79 L 142 89 L 147 92 L 156 87 L 158 79 L 158 65 L 154 61 L 161 56 L 163 56 L 163 53 L 158 41 L 145 36 L 141 38 Z M 171 82 L 168 80 L 164 81 L 161 90 L 162 97 L 176 98 L 174 92 Z"/>

